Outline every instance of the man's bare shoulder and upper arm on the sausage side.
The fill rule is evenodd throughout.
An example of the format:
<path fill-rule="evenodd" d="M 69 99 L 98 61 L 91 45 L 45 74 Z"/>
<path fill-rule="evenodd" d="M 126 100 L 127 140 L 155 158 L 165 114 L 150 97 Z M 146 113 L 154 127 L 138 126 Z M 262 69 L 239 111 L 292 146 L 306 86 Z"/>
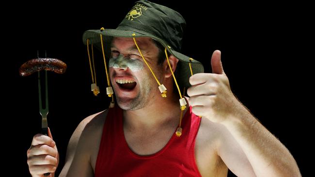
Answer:
<path fill-rule="evenodd" d="M 94 157 L 98 151 L 107 113 L 108 110 L 96 113 L 84 118 L 79 123 L 70 138 L 65 164 L 60 176 L 78 176 L 78 173 L 81 172 L 93 173 L 90 167 L 92 167 L 92 163 L 95 163 Z"/>

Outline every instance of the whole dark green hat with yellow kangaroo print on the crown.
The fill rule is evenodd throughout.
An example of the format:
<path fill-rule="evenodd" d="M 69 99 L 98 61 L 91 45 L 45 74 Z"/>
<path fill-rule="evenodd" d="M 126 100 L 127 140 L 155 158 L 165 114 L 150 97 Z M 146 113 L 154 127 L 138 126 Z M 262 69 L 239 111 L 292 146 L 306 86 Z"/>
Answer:
<path fill-rule="evenodd" d="M 109 59 L 113 37 L 150 37 L 166 47 L 171 55 L 181 61 L 177 64 L 176 80 L 180 87 L 189 88 L 191 86 L 189 63 L 193 74 L 203 73 L 204 67 L 199 61 L 179 52 L 185 27 L 186 22 L 178 12 L 147 0 L 140 0 L 135 2 L 116 29 L 87 30 L 83 33 L 83 43 L 93 44 L 102 51 L 101 34 L 104 54 Z"/>

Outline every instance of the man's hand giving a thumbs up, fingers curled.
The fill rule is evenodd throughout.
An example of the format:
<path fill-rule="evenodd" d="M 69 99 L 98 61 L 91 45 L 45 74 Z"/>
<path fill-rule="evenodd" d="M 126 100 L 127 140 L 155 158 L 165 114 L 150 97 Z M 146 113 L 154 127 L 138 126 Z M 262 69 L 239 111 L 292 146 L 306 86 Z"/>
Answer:
<path fill-rule="evenodd" d="M 198 73 L 189 78 L 191 87 L 187 89 L 189 105 L 195 115 L 213 122 L 227 120 L 235 114 L 234 109 L 241 104 L 230 89 L 229 79 L 221 63 L 221 52 L 216 50 L 211 57 L 212 73 Z"/>

